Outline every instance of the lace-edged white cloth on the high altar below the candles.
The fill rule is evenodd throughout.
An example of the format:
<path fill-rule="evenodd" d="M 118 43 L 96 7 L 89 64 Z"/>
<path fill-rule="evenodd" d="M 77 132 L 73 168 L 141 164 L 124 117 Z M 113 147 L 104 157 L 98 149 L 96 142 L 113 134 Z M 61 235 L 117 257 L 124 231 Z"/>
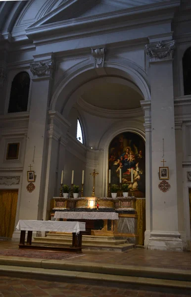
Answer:
<path fill-rule="evenodd" d="M 116 212 L 55 211 L 55 219 L 118 220 Z"/>

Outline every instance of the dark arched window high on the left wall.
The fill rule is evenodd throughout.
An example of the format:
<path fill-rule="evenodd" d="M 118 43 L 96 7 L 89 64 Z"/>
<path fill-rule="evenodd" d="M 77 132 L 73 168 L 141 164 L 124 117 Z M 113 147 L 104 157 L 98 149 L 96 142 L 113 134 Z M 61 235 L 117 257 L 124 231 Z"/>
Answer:
<path fill-rule="evenodd" d="M 23 71 L 18 73 L 11 85 L 8 112 L 27 111 L 30 76 Z"/>

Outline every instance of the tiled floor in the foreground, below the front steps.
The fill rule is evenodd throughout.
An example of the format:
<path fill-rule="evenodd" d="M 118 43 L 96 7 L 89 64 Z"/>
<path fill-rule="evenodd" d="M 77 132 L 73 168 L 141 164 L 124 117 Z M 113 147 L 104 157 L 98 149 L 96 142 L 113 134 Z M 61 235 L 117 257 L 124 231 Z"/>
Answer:
<path fill-rule="evenodd" d="M 0 297 L 188 297 L 185 293 L 158 292 L 157 288 L 115 288 L 0 277 Z"/>

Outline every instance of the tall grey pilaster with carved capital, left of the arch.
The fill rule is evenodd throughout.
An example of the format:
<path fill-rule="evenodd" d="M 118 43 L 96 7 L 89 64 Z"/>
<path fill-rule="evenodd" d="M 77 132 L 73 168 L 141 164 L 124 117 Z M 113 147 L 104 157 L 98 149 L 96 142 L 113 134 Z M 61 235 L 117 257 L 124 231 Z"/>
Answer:
<path fill-rule="evenodd" d="M 38 56 L 34 56 L 34 60 L 30 68 L 33 79 L 19 219 L 41 220 L 46 186 L 48 103 L 53 61 L 51 55 L 40 61 Z M 30 164 L 33 166 L 31 170 L 35 171 L 35 182 L 32 182 L 35 189 L 32 185 L 32 192 L 27 189 Z"/>

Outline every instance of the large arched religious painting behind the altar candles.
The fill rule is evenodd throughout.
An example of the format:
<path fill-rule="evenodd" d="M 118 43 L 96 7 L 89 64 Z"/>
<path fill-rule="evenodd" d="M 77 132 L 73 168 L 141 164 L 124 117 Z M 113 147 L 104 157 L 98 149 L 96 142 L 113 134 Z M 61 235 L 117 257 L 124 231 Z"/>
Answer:
<path fill-rule="evenodd" d="M 145 197 L 145 143 L 141 136 L 133 132 L 117 135 L 109 146 L 108 167 L 111 184 L 119 184 L 121 169 L 122 184 L 129 184 L 135 197 Z"/>

